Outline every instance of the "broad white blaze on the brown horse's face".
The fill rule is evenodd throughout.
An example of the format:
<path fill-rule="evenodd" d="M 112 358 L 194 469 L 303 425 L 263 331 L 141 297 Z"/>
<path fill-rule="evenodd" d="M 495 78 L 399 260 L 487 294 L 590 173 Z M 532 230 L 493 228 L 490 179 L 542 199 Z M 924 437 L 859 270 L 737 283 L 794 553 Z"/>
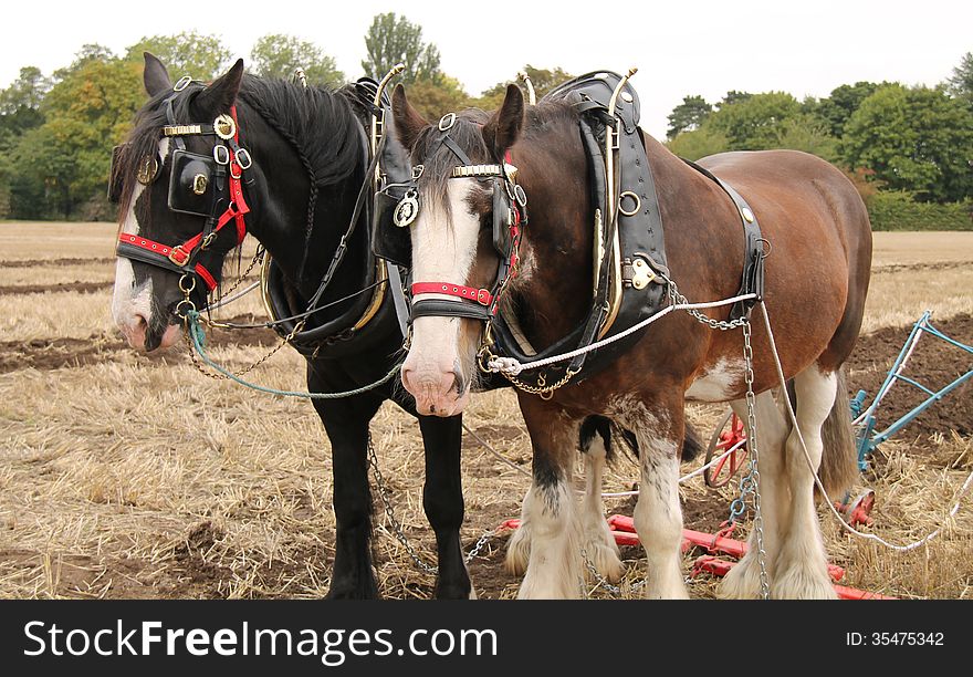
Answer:
<path fill-rule="evenodd" d="M 415 282 L 463 284 L 477 254 L 480 219 L 470 211 L 467 200 L 478 186 L 474 179 L 450 179 L 447 197 L 450 217 L 436 206 L 427 205 L 411 227 L 412 279 Z M 446 294 L 417 294 L 415 301 L 447 299 Z M 412 343 L 402 364 L 402 383 L 412 395 L 421 414 L 451 416 L 459 413 L 468 392 L 453 389 L 459 357 L 458 317 L 417 317 L 412 322 Z"/>

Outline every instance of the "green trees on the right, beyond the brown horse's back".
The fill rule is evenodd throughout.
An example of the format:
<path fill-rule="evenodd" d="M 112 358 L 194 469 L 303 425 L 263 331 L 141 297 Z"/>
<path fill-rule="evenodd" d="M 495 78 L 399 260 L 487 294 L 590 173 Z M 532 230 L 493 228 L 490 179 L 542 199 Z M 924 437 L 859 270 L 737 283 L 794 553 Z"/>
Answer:
<path fill-rule="evenodd" d="M 715 103 L 690 95 L 668 119 L 669 148 L 689 159 L 806 150 L 843 167 L 876 207 L 873 218 L 899 204 L 912 215 L 954 213 L 959 226 L 973 228 L 973 52 L 933 87 L 856 82 L 804 101 L 786 92 L 731 91 Z M 907 209 L 909 202 L 928 207 Z"/>

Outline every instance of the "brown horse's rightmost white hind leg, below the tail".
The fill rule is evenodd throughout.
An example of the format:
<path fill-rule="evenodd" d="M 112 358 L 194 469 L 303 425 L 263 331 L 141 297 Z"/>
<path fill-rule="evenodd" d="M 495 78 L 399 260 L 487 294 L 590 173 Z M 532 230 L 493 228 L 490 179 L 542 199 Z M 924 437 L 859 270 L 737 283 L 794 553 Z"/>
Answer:
<path fill-rule="evenodd" d="M 837 376 L 812 365 L 794 377 L 797 394 L 797 426 L 814 472 L 820 466 L 824 442 L 822 426 L 835 404 Z M 835 598 L 828 577 L 827 553 L 814 500 L 814 475 L 804 448 L 792 430 L 787 438 L 787 481 L 791 487 L 791 515 L 777 559 L 772 594 L 781 598 Z"/>

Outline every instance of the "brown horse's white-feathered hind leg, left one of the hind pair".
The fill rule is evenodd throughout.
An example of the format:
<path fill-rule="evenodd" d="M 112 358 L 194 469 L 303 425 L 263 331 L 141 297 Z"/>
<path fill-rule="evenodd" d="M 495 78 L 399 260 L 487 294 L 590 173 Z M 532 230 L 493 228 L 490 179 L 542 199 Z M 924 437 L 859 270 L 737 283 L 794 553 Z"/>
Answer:
<path fill-rule="evenodd" d="M 746 421 L 746 403 L 739 399 L 731 404 L 733 413 Z M 760 469 L 761 518 L 763 520 L 763 545 L 766 553 L 767 576 L 772 580 L 781 537 L 791 513 L 791 491 L 787 488 L 784 468 L 784 441 L 788 426 L 772 393 L 761 393 L 754 398 L 756 416 L 757 452 Z M 751 435 L 747 425 L 747 435 Z M 749 466 L 741 469 L 746 475 Z M 719 587 L 719 595 L 731 600 L 752 600 L 760 597 L 760 561 L 757 559 L 757 534 L 751 529 L 746 554 L 736 566 L 730 570 Z"/>

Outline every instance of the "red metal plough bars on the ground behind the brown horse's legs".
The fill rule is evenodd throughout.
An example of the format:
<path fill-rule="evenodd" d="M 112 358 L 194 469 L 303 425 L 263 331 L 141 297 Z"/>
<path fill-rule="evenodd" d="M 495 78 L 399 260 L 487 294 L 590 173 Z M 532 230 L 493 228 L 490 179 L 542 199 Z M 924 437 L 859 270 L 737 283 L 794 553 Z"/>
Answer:
<path fill-rule="evenodd" d="M 506 520 L 501 524 L 501 530 L 514 530 L 520 528 L 520 520 Z M 613 514 L 608 518 L 608 528 L 611 537 L 619 545 L 640 545 L 638 534 L 635 531 L 635 522 L 630 517 L 622 514 Z M 697 558 L 693 563 L 690 576 L 695 577 L 701 573 L 710 573 L 716 576 L 726 575 L 726 573 L 736 565 L 716 556 L 716 553 L 730 555 L 737 560 L 746 554 L 746 543 L 730 538 L 732 527 L 723 529 L 716 533 L 705 533 L 702 531 L 693 531 L 692 529 L 682 530 L 682 552 L 687 553 L 693 548 L 702 548 L 707 554 Z M 836 564 L 828 564 L 828 575 L 830 576 L 835 592 L 841 600 L 894 600 L 879 593 L 871 593 L 856 587 L 847 587 L 838 585 L 837 582 L 845 577 L 845 570 Z"/>

